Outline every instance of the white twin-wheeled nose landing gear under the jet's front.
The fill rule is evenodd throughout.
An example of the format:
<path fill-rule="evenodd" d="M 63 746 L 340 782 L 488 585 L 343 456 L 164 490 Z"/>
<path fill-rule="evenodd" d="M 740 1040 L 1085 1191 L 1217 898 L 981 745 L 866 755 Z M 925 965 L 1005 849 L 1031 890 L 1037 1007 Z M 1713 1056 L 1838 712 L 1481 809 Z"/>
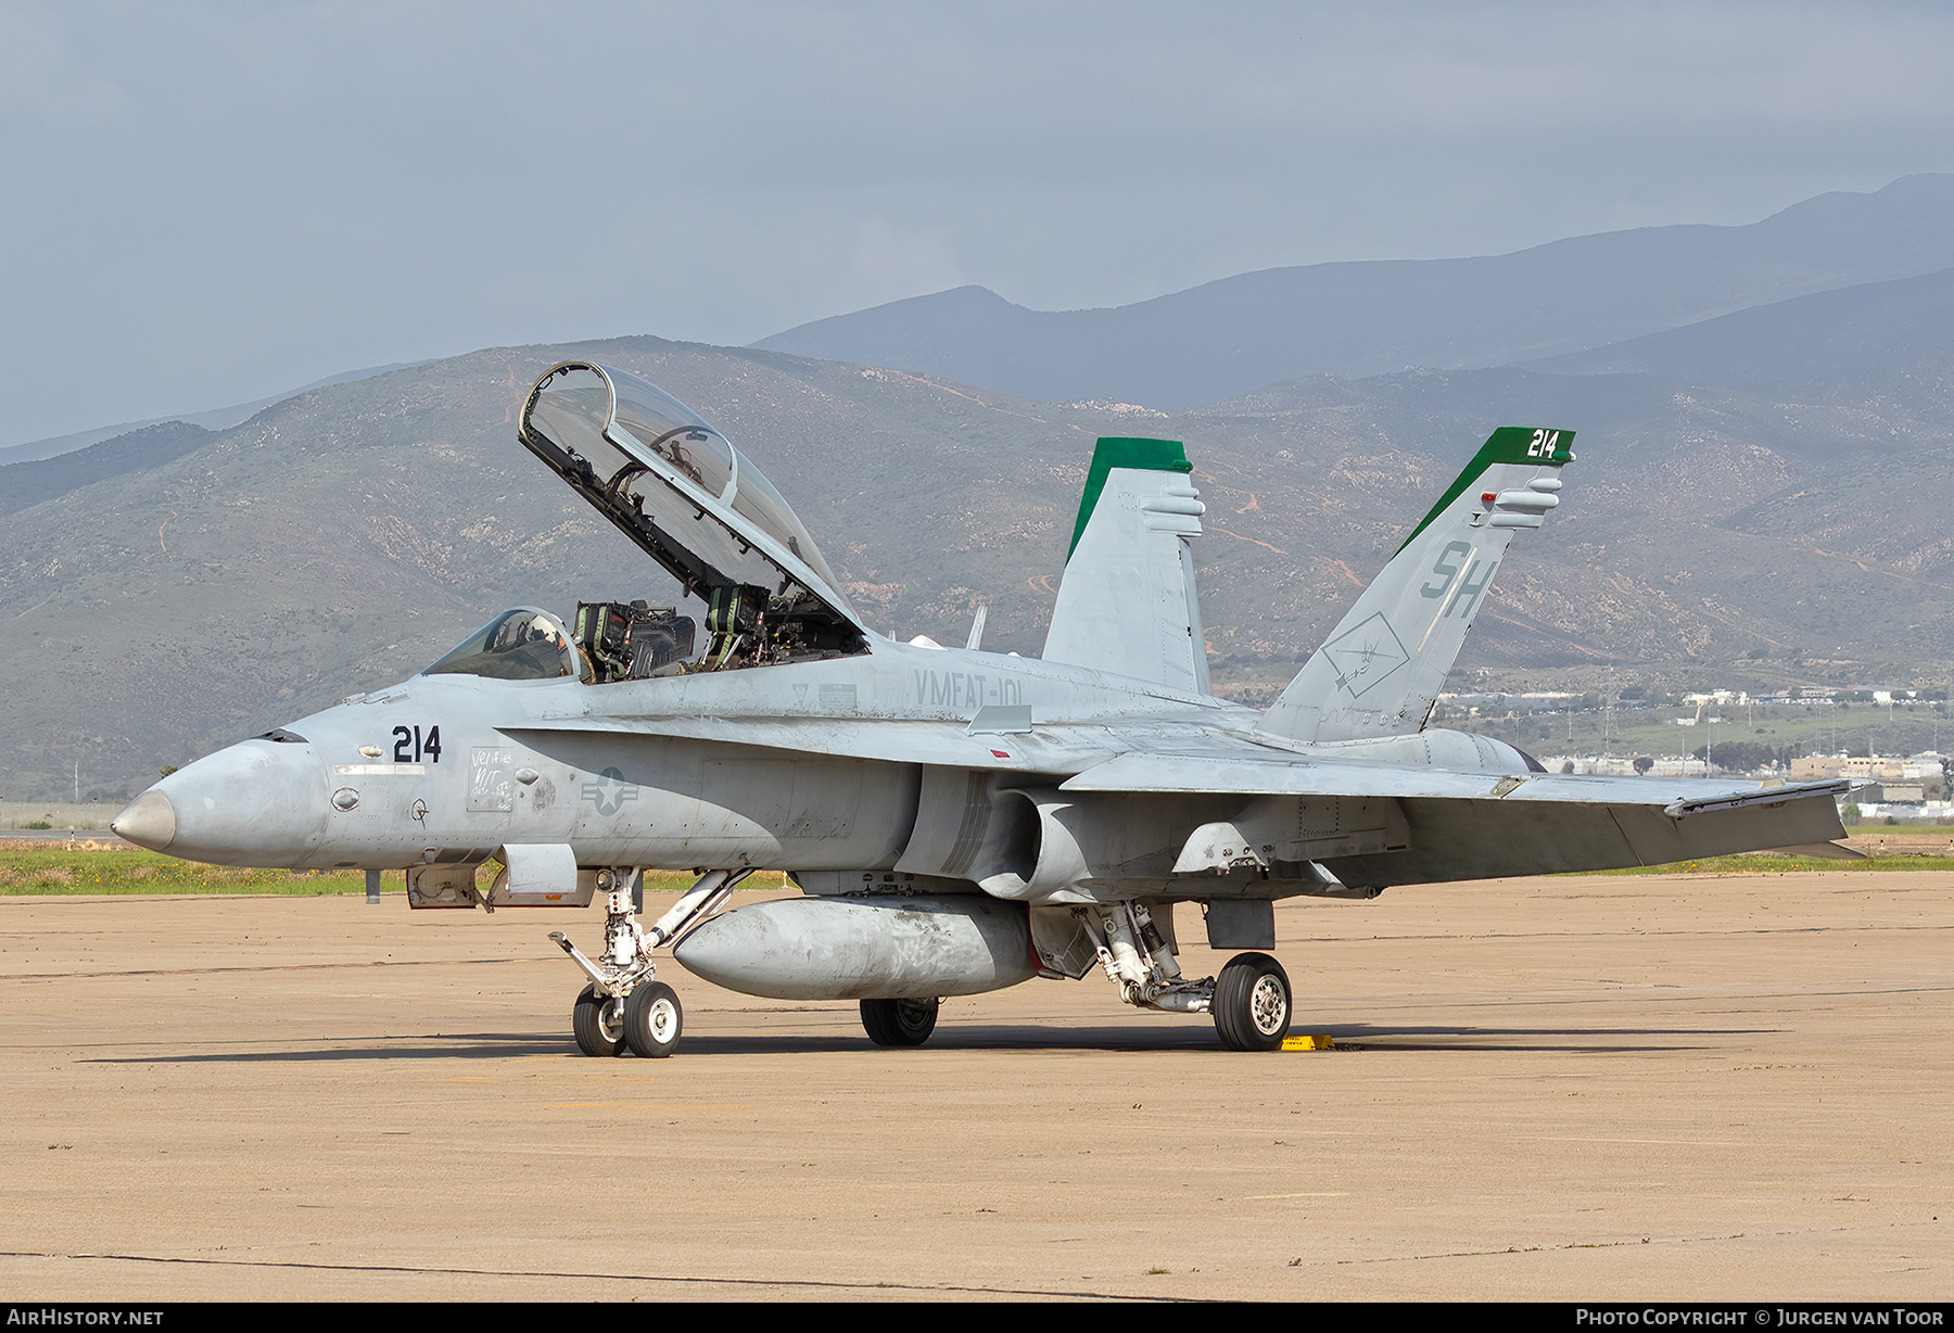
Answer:
<path fill-rule="evenodd" d="M 643 870 L 612 866 L 598 872 L 598 887 L 606 891 L 602 958 L 592 962 L 561 930 L 549 936 L 590 977 L 590 985 L 571 1007 L 576 1050 L 584 1055 L 631 1052 L 645 1059 L 672 1054 L 686 1026 L 686 1010 L 672 987 L 653 979 L 657 968 L 651 950 L 670 944 L 719 911 L 733 885 L 748 874 L 752 872 L 709 870 L 647 930 L 633 921 L 645 911 Z M 934 1007 L 930 1022 L 936 1022 Z"/>

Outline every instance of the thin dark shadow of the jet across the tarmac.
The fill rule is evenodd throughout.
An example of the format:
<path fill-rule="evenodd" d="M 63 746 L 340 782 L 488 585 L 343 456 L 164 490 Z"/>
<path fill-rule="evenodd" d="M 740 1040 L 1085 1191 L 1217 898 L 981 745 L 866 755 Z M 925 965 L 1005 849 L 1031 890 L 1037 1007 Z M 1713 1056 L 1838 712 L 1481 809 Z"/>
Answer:
<path fill-rule="evenodd" d="M 1337 1050 L 1370 1054 L 1417 1052 L 1567 1052 L 1567 1054 L 1628 1054 L 1714 1050 L 1718 1038 L 1751 1038 L 1778 1028 L 1473 1028 L 1473 1026 L 1372 1026 L 1337 1024 L 1327 1028 Z M 1131 1026 L 965 1026 L 938 1028 L 930 1044 L 914 1052 L 1192 1052 L 1215 1057 L 1243 1059 L 1223 1050 L 1213 1032 L 1202 1026 L 1131 1028 Z M 860 1052 L 913 1057 L 905 1050 L 871 1044 L 866 1036 L 830 1034 L 766 1034 L 711 1036 L 688 1032 L 676 1059 L 696 1055 L 764 1055 L 764 1054 L 838 1054 Z M 512 1059 L 518 1055 L 565 1055 L 584 1059 L 576 1046 L 549 1032 L 451 1032 L 401 1034 L 391 1042 L 358 1046 L 322 1046 L 307 1050 L 197 1052 L 180 1055 L 106 1055 L 84 1063 L 104 1065 L 170 1065 L 170 1063 L 309 1063 L 340 1059 Z"/>

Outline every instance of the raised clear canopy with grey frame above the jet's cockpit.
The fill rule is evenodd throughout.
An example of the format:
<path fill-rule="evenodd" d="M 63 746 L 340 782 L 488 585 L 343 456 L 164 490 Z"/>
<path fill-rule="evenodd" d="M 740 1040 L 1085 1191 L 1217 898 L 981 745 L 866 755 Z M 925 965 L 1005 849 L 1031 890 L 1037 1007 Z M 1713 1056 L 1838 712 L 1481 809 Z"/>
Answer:
<path fill-rule="evenodd" d="M 807 647 L 854 651 L 862 622 L 815 539 L 744 453 L 647 379 L 551 367 L 522 408 L 524 446 L 658 561 L 686 594 L 764 602 Z"/>

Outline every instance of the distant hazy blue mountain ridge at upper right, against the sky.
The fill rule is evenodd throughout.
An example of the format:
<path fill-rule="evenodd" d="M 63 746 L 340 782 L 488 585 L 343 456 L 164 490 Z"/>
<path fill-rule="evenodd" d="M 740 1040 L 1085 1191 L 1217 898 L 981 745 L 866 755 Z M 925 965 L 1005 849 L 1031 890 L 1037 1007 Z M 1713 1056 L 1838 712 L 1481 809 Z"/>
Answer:
<path fill-rule="evenodd" d="M 754 346 L 1028 399 L 1180 408 L 1297 375 L 1593 354 L 1792 297 L 1954 268 L 1954 176 L 1827 194 L 1747 227 L 1643 227 L 1516 254 L 1272 268 L 1096 311 L 983 287 L 836 315 Z"/>

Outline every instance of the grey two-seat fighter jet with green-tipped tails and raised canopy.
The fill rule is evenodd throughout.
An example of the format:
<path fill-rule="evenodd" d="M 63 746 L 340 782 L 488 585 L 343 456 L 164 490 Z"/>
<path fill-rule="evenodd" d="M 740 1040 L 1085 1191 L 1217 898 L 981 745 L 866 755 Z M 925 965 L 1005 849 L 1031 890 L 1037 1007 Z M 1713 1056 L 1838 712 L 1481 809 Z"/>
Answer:
<path fill-rule="evenodd" d="M 633 373 L 551 367 L 518 438 L 676 580 L 672 604 L 504 612 L 111 827 L 190 860 L 404 870 L 412 907 L 602 897 L 594 956 L 551 936 L 588 977 L 588 1055 L 678 1046 L 660 948 L 748 995 L 860 1001 L 883 1046 L 928 1040 L 944 997 L 1100 969 L 1131 1005 L 1274 1050 L 1278 899 L 1845 833 L 1843 782 L 1548 774 L 1428 725 L 1508 543 L 1559 504 L 1569 430 L 1495 430 L 1266 711 L 1210 690 L 1178 442 L 1098 442 L 1030 659 L 875 633 L 760 469 Z M 698 874 L 649 924 L 647 870 Z M 756 870 L 799 897 L 721 911 Z M 1176 905 L 1243 950 L 1217 975 L 1180 971 Z"/>

